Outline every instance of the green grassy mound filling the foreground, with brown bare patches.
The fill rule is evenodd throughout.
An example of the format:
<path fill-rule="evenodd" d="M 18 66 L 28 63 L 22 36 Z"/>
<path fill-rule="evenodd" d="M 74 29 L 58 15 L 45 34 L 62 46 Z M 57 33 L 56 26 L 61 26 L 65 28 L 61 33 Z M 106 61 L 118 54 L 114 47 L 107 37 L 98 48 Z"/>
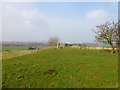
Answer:
<path fill-rule="evenodd" d="M 2 61 L 9 88 L 117 88 L 118 56 L 100 50 L 46 49 Z"/>

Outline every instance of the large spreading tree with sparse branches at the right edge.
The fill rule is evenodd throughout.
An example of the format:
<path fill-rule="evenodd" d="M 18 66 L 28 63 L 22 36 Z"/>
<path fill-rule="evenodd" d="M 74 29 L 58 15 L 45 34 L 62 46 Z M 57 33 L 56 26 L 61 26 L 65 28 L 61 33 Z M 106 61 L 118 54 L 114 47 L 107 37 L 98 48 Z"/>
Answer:
<path fill-rule="evenodd" d="M 97 30 L 93 30 L 97 34 L 96 40 L 111 45 L 112 51 L 115 53 L 115 46 L 118 46 L 119 42 L 118 23 L 106 22 L 96 28 Z"/>

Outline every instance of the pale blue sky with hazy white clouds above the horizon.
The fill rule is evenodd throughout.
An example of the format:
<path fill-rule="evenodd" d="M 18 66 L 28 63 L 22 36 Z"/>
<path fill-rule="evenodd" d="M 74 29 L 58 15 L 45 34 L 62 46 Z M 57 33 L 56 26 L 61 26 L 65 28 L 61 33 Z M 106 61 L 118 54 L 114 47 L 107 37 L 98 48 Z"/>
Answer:
<path fill-rule="evenodd" d="M 4 2 L 2 40 L 93 43 L 92 29 L 117 19 L 117 2 Z"/>

